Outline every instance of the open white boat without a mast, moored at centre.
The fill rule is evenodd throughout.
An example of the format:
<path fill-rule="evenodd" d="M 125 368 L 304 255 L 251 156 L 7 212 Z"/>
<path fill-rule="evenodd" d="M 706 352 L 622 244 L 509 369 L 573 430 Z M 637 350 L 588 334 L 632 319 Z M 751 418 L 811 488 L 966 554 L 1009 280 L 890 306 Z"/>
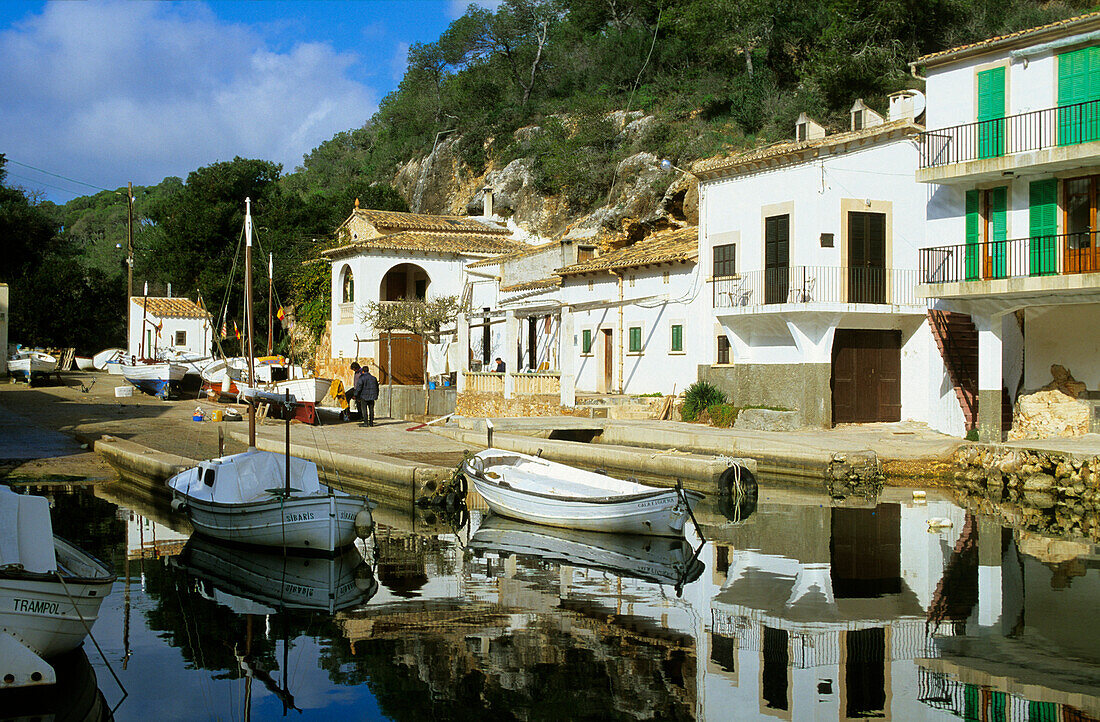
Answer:
<path fill-rule="evenodd" d="M 588 532 L 683 536 L 703 499 L 501 449 L 470 457 L 462 471 L 502 516 Z"/>

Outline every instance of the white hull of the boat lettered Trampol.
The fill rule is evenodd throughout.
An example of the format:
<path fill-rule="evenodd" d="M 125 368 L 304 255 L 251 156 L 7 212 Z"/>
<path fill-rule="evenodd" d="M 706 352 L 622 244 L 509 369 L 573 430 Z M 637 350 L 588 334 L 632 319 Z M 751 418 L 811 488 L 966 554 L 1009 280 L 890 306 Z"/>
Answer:
<path fill-rule="evenodd" d="M 97 568 L 97 577 L 62 572 L 63 584 L 54 573 L 0 573 L 0 630 L 44 658 L 80 646 L 114 583 L 114 575 L 101 562 L 61 539 L 55 544 L 59 551 L 66 548 L 69 555 L 80 555 L 84 564 Z"/>

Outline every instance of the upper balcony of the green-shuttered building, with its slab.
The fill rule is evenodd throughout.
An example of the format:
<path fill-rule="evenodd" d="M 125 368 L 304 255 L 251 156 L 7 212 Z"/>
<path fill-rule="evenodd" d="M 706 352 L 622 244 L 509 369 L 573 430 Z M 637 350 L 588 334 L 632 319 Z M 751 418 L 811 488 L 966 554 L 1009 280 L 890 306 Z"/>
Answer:
<path fill-rule="evenodd" d="M 1001 177 L 1022 167 L 1055 172 L 1100 156 L 1100 100 L 921 133 L 916 179 Z"/>

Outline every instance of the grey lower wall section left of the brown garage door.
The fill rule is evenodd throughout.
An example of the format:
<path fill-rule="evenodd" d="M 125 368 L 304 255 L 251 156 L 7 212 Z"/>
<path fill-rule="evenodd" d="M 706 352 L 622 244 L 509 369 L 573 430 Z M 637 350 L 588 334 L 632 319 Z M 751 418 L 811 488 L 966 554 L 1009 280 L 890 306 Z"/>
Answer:
<path fill-rule="evenodd" d="M 833 375 L 828 363 L 735 363 L 701 365 L 734 406 L 773 406 L 799 412 L 800 426 L 833 426 Z"/>

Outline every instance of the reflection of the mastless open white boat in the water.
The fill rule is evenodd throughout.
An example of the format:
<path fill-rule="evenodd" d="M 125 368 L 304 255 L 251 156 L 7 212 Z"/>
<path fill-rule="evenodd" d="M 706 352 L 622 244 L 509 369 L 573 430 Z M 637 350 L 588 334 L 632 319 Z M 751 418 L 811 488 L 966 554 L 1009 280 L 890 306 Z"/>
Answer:
<path fill-rule="evenodd" d="M 703 573 L 697 550 L 683 538 L 559 529 L 490 516 L 470 539 L 470 549 L 538 557 L 559 565 L 607 571 L 675 587 L 679 594 Z M 702 547 L 701 547 L 702 548 Z"/>

